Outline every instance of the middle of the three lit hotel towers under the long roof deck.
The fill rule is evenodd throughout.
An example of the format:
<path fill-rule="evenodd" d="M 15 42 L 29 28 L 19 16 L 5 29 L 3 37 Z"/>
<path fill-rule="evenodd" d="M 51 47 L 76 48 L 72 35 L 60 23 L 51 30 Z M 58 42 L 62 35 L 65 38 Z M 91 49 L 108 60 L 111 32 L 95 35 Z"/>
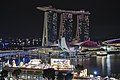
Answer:
<path fill-rule="evenodd" d="M 60 20 L 59 38 L 65 37 L 67 42 L 71 42 L 73 39 L 72 14 L 62 13 L 60 19 L 61 20 Z"/>

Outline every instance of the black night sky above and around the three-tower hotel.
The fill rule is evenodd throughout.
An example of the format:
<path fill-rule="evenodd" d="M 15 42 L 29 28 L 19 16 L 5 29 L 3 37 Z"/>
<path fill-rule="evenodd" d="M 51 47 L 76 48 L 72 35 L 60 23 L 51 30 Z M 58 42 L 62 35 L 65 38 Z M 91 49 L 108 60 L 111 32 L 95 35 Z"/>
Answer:
<path fill-rule="evenodd" d="M 88 10 L 92 40 L 119 38 L 120 7 L 117 0 L 1 0 L 0 37 L 41 37 L 43 12 L 37 6 Z"/>

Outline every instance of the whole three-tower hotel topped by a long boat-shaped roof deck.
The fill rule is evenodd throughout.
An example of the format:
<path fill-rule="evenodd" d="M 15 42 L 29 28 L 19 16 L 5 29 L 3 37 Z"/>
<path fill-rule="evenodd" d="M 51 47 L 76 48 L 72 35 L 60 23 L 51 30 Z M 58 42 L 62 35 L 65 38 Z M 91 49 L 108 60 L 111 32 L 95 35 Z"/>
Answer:
<path fill-rule="evenodd" d="M 65 37 L 66 42 L 89 39 L 88 11 L 61 10 L 51 6 L 37 9 L 44 11 L 42 46 L 52 45 L 62 37 Z"/>

